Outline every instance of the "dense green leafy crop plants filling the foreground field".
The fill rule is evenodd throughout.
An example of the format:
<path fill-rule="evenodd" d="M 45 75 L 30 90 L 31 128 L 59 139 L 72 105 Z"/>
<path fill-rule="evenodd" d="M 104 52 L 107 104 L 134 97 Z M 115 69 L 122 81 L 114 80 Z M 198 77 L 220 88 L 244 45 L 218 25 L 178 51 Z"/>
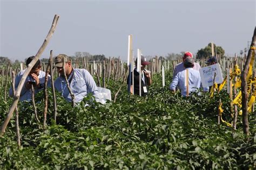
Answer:
<path fill-rule="evenodd" d="M 172 77 L 166 74 L 166 84 Z M 150 95 L 139 97 L 120 91 L 116 103 L 100 104 L 92 96 L 75 108 L 57 94 L 57 122 L 53 121 L 52 98 L 48 103 L 48 126 L 37 125 L 30 102 L 19 103 L 22 148 L 18 150 L 15 121 L 0 138 L 0 169 L 248 169 L 255 168 L 255 143 L 238 130 L 217 125 L 218 100 L 223 101 L 223 118 L 231 122 L 226 93 L 201 91 L 189 98 L 161 87 L 154 75 Z M 116 93 L 121 81 L 110 80 Z M 51 96 L 51 90 L 48 91 Z M 113 96 L 112 94 L 112 96 Z M 36 95 L 38 117 L 43 122 L 43 93 Z M 84 107 L 85 104 L 89 104 Z M 0 101 L 3 122 L 11 100 Z M 250 130 L 255 133 L 253 115 Z"/>

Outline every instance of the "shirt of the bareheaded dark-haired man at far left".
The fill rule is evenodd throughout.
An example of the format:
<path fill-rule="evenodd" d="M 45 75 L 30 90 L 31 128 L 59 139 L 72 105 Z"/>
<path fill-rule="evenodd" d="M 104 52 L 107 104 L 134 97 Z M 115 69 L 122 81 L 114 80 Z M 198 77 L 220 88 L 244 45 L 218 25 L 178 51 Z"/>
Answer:
<path fill-rule="evenodd" d="M 22 79 L 22 76 L 24 74 L 26 69 L 22 70 L 21 72 L 19 72 L 17 74 L 17 76 L 15 77 L 15 90 L 17 90 L 18 88 L 18 85 L 19 85 L 19 82 L 21 81 Z M 44 82 L 45 82 L 45 72 L 43 72 L 42 70 L 40 70 L 39 72 L 39 75 L 38 75 L 38 78 L 39 78 L 39 86 L 35 87 L 35 94 L 37 94 L 40 90 L 43 89 L 44 87 Z M 21 90 L 21 95 L 19 96 L 19 100 L 20 101 L 30 101 L 31 100 L 31 89 L 26 89 L 25 88 L 25 84 L 26 82 L 28 81 L 31 81 L 33 80 L 33 78 L 31 76 L 27 76 L 26 77 L 26 80 L 25 80 L 25 83 L 22 87 L 22 90 Z M 48 75 L 48 83 L 47 83 L 47 86 L 50 87 L 51 86 L 51 76 Z M 10 97 L 13 97 L 14 96 L 14 92 L 12 91 L 12 87 L 10 87 L 9 89 L 9 96 Z"/>

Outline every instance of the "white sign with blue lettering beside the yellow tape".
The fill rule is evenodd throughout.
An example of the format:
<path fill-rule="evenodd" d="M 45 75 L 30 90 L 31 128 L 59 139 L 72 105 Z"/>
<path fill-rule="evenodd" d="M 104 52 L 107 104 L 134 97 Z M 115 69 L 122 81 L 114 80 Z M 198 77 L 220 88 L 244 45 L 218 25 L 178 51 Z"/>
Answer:
<path fill-rule="evenodd" d="M 223 82 L 223 76 L 221 74 L 219 63 L 200 68 L 199 72 L 203 87 L 209 87 L 213 85 L 214 73 L 216 73 L 215 83 L 219 84 Z"/>

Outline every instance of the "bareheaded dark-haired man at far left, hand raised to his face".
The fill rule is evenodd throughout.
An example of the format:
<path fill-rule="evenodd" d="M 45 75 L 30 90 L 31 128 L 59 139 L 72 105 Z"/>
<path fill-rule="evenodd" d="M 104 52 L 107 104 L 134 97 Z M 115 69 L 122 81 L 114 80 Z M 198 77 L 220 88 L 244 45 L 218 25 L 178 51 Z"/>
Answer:
<path fill-rule="evenodd" d="M 26 60 L 26 67 L 28 67 L 29 63 L 35 58 L 35 56 L 30 56 Z M 22 76 L 24 74 L 26 69 L 22 70 L 18 73 L 18 75 L 15 77 L 15 89 L 17 90 L 19 82 L 22 79 Z M 19 97 L 20 101 L 30 101 L 31 100 L 31 88 L 32 86 L 35 89 L 35 94 L 37 94 L 40 90 L 44 88 L 44 82 L 45 82 L 45 72 L 41 70 L 41 61 L 37 60 L 33 68 L 31 69 L 29 75 L 26 77 L 25 83 L 21 90 L 21 95 Z M 48 75 L 48 87 L 51 86 L 51 77 Z M 14 92 L 12 91 L 12 88 L 9 89 L 9 96 L 14 97 Z"/>

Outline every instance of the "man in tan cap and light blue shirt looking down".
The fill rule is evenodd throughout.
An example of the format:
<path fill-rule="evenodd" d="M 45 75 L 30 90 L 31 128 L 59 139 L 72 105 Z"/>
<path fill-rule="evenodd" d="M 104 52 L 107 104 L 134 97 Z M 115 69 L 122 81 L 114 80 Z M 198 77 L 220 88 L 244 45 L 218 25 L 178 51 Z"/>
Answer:
<path fill-rule="evenodd" d="M 63 59 L 65 72 L 63 70 Z M 97 98 L 98 89 L 93 77 L 86 69 L 73 68 L 71 59 L 65 54 L 59 54 L 55 58 L 55 66 L 60 76 L 55 80 L 54 86 L 57 91 L 62 93 L 66 101 L 71 102 L 72 98 L 66 85 L 64 74 L 68 78 L 72 93 L 75 95 L 75 103 L 79 103 L 83 98 L 92 93 Z"/>

